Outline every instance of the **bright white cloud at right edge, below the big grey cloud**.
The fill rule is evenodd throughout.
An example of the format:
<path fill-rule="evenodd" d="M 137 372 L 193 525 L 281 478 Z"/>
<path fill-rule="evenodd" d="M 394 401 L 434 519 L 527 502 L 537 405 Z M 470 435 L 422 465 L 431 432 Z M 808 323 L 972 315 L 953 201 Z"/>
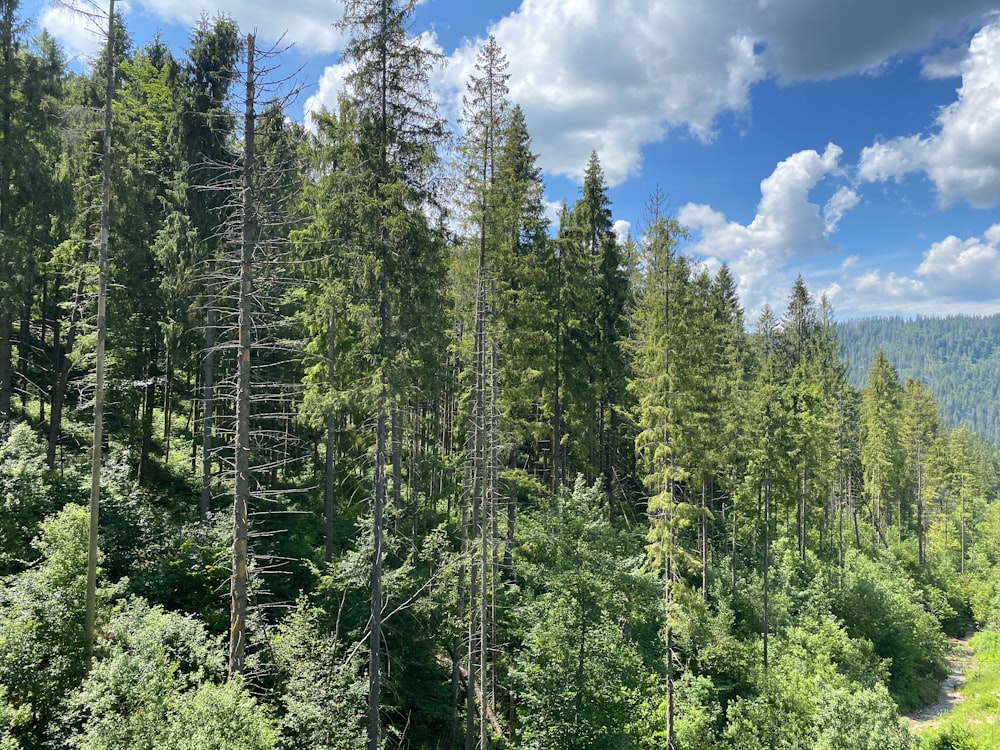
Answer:
<path fill-rule="evenodd" d="M 862 179 L 901 180 L 926 172 L 942 205 L 1000 204 L 1000 21 L 976 34 L 960 68 L 958 98 L 941 110 L 937 132 L 894 138 L 864 149 L 858 168 Z"/>

